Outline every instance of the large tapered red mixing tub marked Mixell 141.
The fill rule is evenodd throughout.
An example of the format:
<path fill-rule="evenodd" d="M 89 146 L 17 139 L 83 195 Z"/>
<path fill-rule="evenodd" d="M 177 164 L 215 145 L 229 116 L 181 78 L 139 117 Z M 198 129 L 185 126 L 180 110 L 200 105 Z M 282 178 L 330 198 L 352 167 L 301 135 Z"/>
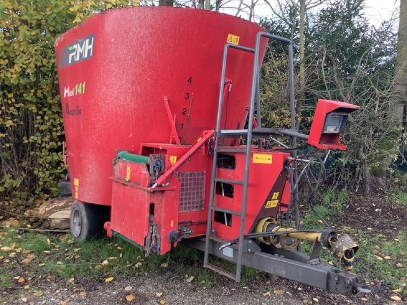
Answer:
<path fill-rule="evenodd" d="M 239 37 L 240 45 L 254 47 L 259 31 L 264 29 L 225 14 L 140 7 L 98 14 L 58 38 L 56 60 L 77 199 L 110 205 L 115 151 L 138 153 L 143 142 L 168 142 L 165 96 L 181 144 L 192 144 L 203 130 L 213 129 L 223 47 L 230 35 Z M 227 128 L 244 124 L 252 64 L 252 54 L 230 51 L 226 75 L 234 89 Z"/>

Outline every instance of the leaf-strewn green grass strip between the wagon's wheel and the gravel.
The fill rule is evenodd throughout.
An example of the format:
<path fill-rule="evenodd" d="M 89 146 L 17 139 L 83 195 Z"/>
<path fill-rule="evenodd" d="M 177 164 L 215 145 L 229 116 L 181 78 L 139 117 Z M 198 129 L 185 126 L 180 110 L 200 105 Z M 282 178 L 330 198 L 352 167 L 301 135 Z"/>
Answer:
<path fill-rule="evenodd" d="M 104 280 L 108 277 L 125 278 L 144 273 L 194 276 L 195 281 L 205 285 L 216 285 L 222 277 L 203 268 L 202 252 L 179 245 L 164 256 L 144 257 L 143 252 L 130 243 L 119 239 L 95 239 L 76 243 L 70 234 L 37 234 L 28 232 L 19 235 L 15 229 L 8 229 L 7 235 L 0 238 L 0 247 L 11 247 L 11 252 L 0 252 L 9 262 L 0 261 L 2 273 L 0 289 L 16 285 L 13 277 L 23 272 L 34 275 L 53 275 L 68 282 L 74 278 Z M 25 251 L 25 253 L 24 253 Z M 28 264 L 21 261 L 30 253 L 35 255 Z M 9 257 L 15 253 L 14 257 Z M 107 261 L 107 264 L 102 262 Z M 214 262 L 222 268 L 234 271 L 235 264 L 215 258 Z M 166 267 L 165 265 L 168 264 Z M 164 264 L 164 266 L 162 266 Z M 7 276 L 9 275 L 9 276 Z M 258 277 L 258 271 L 244 267 L 243 283 Z"/>

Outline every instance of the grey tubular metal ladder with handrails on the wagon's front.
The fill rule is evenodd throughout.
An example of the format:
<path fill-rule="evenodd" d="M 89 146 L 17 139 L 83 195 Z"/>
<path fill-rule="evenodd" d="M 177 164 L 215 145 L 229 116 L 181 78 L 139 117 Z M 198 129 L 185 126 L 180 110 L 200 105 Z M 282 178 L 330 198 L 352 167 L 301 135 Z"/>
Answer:
<path fill-rule="evenodd" d="M 223 52 L 223 62 L 222 62 L 222 73 L 221 73 L 221 81 L 224 82 L 225 74 L 226 74 L 226 64 L 227 64 L 227 54 L 229 49 L 237 49 L 240 51 L 250 52 L 254 54 L 253 60 L 253 77 L 251 83 L 251 99 L 250 99 L 250 108 L 249 108 L 249 119 L 248 119 L 248 128 L 247 129 L 238 129 L 238 130 L 226 130 L 221 129 L 221 120 L 222 120 L 222 108 L 223 108 L 223 94 L 225 86 L 221 83 L 220 92 L 219 92 L 219 104 L 218 104 L 218 113 L 217 113 L 217 121 L 216 121 L 216 135 L 215 135 L 215 147 L 213 153 L 213 164 L 212 164 L 212 179 L 211 179 L 211 193 L 210 193 L 210 200 L 209 200 L 209 208 L 208 208 L 208 223 L 207 223 L 207 233 L 206 233 L 206 240 L 205 240 L 205 255 L 203 259 L 203 266 L 209 269 L 212 269 L 221 275 L 224 275 L 230 279 L 235 280 L 236 282 L 241 281 L 241 274 L 242 274 L 242 256 L 244 251 L 244 235 L 245 235 L 245 225 L 246 225 L 246 207 L 247 207 L 247 195 L 248 195 L 248 183 L 249 183 L 249 169 L 250 169 L 250 153 L 251 153 L 251 146 L 252 146 L 252 139 L 253 139 L 253 117 L 254 117 L 254 105 L 256 104 L 257 110 L 257 120 L 258 126 L 261 125 L 261 109 L 260 109 L 260 92 L 259 92 L 259 57 L 260 57 L 260 42 L 261 38 L 273 39 L 278 40 L 288 45 L 288 60 L 289 60 L 289 67 L 288 67 L 288 75 L 289 75 L 289 83 L 290 83 L 290 102 L 291 108 L 295 108 L 294 102 L 294 71 L 293 71 L 293 49 L 292 43 L 290 40 L 270 35 L 268 33 L 260 32 L 256 36 L 256 44 L 255 48 L 247 48 L 238 45 L 231 45 L 226 44 L 224 47 Z M 293 117 L 294 113 L 294 117 Z M 292 123 L 293 119 L 295 122 L 295 111 L 292 111 Z M 221 179 L 216 176 L 217 173 L 217 158 L 218 153 L 223 151 L 219 150 L 219 139 L 220 138 L 236 138 L 239 136 L 246 136 L 247 138 L 247 145 L 246 149 L 243 152 L 246 154 L 245 160 L 245 174 L 244 179 L 242 180 L 230 180 L 230 179 Z M 292 143 L 293 144 L 293 143 Z M 295 143 L 294 143 L 295 145 Z M 238 150 L 237 151 L 242 151 Z M 218 208 L 214 206 L 214 197 L 215 197 L 215 190 L 216 190 L 216 182 L 225 182 L 232 185 L 243 185 L 243 202 L 242 202 L 242 210 L 240 212 L 234 210 L 228 210 L 223 208 Z M 210 255 L 210 244 L 212 243 L 214 246 L 217 242 L 227 242 L 221 240 L 220 238 L 214 236 L 212 234 L 212 219 L 213 219 L 213 212 L 219 211 L 223 213 L 228 213 L 231 215 L 239 216 L 240 217 L 240 235 L 239 235 L 239 245 L 238 245 L 238 257 L 236 261 L 236 273 L 230 273 L 220 267 L 213 265 L 209 262 L 209 255 Z M 235 246 L 236 249 L 236 246 Z"/>

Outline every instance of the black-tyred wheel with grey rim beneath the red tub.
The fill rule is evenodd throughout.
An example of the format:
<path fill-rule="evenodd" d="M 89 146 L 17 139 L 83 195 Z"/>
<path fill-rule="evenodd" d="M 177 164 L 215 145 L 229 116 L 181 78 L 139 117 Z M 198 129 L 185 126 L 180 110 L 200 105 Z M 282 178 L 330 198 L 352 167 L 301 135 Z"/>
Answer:
<path fill-rule="evenodd" d="M 76 240 L 82 242 L 99 237 L 103 232 L 102 209 L 98 205 L 74 201 L 70 228 Z"/>

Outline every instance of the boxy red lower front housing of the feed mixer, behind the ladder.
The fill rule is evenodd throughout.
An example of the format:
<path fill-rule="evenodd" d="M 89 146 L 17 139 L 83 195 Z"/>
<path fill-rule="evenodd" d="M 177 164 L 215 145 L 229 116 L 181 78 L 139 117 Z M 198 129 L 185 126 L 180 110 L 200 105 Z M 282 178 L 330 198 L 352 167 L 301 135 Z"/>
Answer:
<path fill-rule="evenodd" d="M 203 139 L 200 141 L 206 142 Z M 236 146 L 234 147 L 236 148 Z M 223 148 L 229 147 L 224 146 Z M 245 149 L 245 147 L 241 146 L 241 149 Z M 205 235 L 213 157 L 207 146 L 196 149 L 194 154 L 188 154 L 188 151 L 191 151 L 190 147 L 175 144 L 142 144 L 142 155 L 165 155 L 167 168 L 176 167 L 171 164 L 173 156 L 176 156 L 180 163 L 182 158 L 188 158 L 187 162 L 176 167 L 166 187 L 149 187 L 151 181 L 146 164 L 117 160 L 113 166 L 111 221 L 105 226 L 107 231 L 117 232 L 138 245 L 144 246 L 146 236 L 149 235 L 149 225 L 156 224 L 157 235 L 161 238 L 159 241 L 160 254 L 171 249 L 171 242 L 168 240 L 170 232 L 190 231 L 191 233 L 184 238 Z M 219 166 L 218 176 L 227 180 L 242 180 L 245 172 L 245 155 L 228 153 L 227 156 L 236 160 L 235 166 L 234 168 Z M 246 233 L 253 228 L 259 211 L 264 206 L 268 206 L 265 209 L 267 215 L 276 218 L 286 182 L 286 173 L 282 173 L 283 166 L 289 156 L 289 153 L 253 149 Z M 127 167 L 130 167 L 130 170 Z M 126 175 L 129 172 L 130 178 L 127 181 Z M 280 173 L 282 174 L 279 175 Z M 280 184 L 276 183 L 278 179 L 280 179 Z M 222 194 L 221 187 L 217 187 L 214 206 L 239 212 L 242 209 L 242 197 L 242 185 L 235 186 L 231 194 Z M 153 217 L 153 221 L 150 220 L 150 216 Z M 217 236 L 225 240 L 237 237 L 240 230 L 240 216 L 230 215 L 231 219 L 227 219 L 227 221 L 223 217 L 225 216 L 221 215 L 221 218 L 217 218 L 216 214 L 214 215 L 213 229 Z"/>

